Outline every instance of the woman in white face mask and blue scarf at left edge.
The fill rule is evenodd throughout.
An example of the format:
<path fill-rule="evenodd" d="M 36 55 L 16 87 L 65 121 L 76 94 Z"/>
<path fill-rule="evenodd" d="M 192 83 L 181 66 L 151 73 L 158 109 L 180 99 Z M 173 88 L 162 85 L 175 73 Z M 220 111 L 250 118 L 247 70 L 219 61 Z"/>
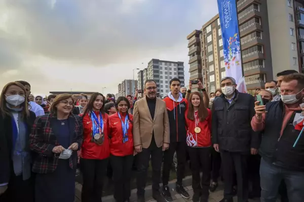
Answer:
<path fill-rule="evenodd" d="M 8 83 L 0 97 L 0 201 L 33 201 L 29 134 L 36 118 L 25 88 Z"/>

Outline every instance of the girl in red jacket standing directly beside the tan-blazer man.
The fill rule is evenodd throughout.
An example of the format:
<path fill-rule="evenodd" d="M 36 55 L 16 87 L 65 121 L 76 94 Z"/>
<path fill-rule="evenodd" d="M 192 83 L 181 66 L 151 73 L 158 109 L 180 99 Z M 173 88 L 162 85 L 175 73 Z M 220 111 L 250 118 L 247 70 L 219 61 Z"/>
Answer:
<path fill-rule="evenodd" d="M 133 117 L 128 113 L 130 102 L 126 97 L 118 97 L 118 112 L 110 119 L 110 162 L 115 183 L 114 198 L 118 202 L 129 201 L 131 195 L 131 172 L 133 165 Z"/>

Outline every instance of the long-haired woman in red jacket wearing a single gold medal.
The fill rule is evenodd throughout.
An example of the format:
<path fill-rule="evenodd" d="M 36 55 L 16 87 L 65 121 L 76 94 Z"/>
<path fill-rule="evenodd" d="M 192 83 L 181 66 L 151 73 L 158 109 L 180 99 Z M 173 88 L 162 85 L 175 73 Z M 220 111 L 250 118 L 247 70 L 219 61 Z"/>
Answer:
<path fill-rule="evenodd" d="M 189 101 L 191 102 L 185 119 L 194 190 L 192 200 L 205 202 L 208 201 L 210 184 L 211 111 L 204 106 L 203 97 L 199 92 L 191 93 Z"/>

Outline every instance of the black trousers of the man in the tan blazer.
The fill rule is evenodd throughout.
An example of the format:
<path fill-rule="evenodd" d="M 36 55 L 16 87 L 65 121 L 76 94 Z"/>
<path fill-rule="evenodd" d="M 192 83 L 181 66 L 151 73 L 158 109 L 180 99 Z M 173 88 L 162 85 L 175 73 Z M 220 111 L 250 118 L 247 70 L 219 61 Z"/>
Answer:
<path fill-rule="evenodd" d="M 152 164 L 152 189 L 153 191 L 159 191 L 161 180 L 161 168 L 163 161 L 163 147 L 157 147 L 153 143 L 148 148 L 142 148 L 141 153 L 136 155 L 137 165 L 137 195 L 144 196 L 144 188 L 147 181 L 147 171 L 149 167 L 149 161 L 151 157 Z"/>

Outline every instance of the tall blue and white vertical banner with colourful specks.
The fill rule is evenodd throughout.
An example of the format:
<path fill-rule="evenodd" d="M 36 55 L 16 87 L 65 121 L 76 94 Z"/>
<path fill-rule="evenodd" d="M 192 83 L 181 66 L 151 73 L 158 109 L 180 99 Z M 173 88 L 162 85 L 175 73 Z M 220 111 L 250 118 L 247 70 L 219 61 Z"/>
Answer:
<path fill-rule="evenodd" d="M 217 0 L 226 76 L 244 82 L 236 0 Z M 243 91 L 243 90 L 242 90 Z"/>

